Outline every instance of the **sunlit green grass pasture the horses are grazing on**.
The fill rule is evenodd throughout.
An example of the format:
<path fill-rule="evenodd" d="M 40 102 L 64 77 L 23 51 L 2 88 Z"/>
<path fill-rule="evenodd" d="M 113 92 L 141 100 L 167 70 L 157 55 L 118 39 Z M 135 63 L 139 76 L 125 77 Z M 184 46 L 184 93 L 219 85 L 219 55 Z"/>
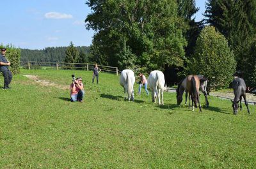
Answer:
<path fill-rule="evenodd" d="M 83 77 L 84 103 L 69 101 L 71 74 Z M 91 80 L 92 71 L 22 70 L 0 89 L 0 168 L 255 168 L 253 105 L 233 115 L 229 100 L 210 96 L 192 112 L 164 92 L 159 107 L 138 84 L 125 101 L 116 75 Z"/>

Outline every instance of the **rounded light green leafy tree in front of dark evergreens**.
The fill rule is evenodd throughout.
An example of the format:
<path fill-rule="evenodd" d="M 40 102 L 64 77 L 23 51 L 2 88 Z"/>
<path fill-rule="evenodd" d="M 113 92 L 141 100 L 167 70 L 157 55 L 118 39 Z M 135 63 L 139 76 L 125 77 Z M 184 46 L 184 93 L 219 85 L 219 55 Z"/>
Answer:
<path fill-rule="evenodd" d="M 213 26 L 205 27 L 196 40 L 195 54 L 188 63 L 193 74 L 202 74 L 209 79 L 211 89 L 227 87 L 236 71 L 234 54 L 225 37 Z"/>

